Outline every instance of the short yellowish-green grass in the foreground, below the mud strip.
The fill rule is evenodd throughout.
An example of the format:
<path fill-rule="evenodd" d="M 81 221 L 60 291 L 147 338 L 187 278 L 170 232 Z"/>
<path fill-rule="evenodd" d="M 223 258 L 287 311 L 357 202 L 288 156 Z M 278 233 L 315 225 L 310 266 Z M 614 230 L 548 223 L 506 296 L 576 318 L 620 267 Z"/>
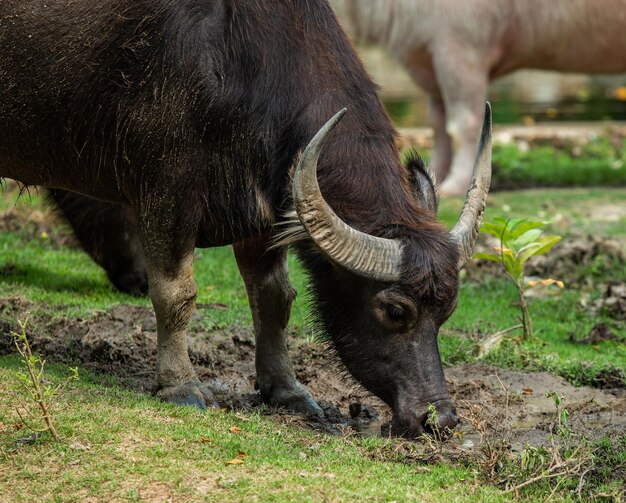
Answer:
<path fill-rule="evenodd" d="M 0 382 L 10 383 L 16 370 L 16 358 L 0 357 Z M 0 386 L 2 501 L 506 500 L 471 468 L 421 469 L 385 454 L 385 439 L 314 434 L 260 413 L 202 413 L 88 373 L 56 402 L 60 444 L 15 443 L 28 432 L 15 430 L 14 402 Z M 240 451 L 245 464 L 225 465 Z"/>

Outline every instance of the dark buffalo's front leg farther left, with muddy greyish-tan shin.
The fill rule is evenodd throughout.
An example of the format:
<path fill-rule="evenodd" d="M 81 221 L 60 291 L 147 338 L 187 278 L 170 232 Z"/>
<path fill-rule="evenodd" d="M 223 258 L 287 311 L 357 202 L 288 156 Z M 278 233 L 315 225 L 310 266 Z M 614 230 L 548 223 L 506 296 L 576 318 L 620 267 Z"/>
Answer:
<path fill-rule="evenodd" d="M 159 218 L 154 218 L 159 215 Z M 201 409 L 217 406 L 197 378 L 189 359 L 187 325 L 198 289 L 193 275 L 194 243 L 188 228 L 171 222 L 164 211 L 140 221 L 150 297 L 157 319 L 157 395 Z M 149 221 L 148 221 L 149 220 Z"/>

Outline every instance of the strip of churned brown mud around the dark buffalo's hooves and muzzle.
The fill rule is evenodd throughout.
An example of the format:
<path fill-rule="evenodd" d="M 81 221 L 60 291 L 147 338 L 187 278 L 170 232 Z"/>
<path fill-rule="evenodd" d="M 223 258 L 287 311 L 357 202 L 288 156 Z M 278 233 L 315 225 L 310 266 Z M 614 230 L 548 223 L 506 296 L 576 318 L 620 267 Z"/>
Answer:
<path fill-rule="evenodd" d="M 0 299 L 3 318 L 23 319 L 31 308 L 17 298 Z M 200 306 L 190 326 L 190 354 L 198 375 L 225 406 L 250 409 L 259 405 L 254 391 L 254 340 L 250 329 L 233 328 L 207 333 L 202 319 L 210 305 Z M 7 316 L 7 314 L 9 316 Z M 151 310 L 118 306 L 89 319 L 68 318 L 50 322 L 31 317 L 29 337 L 34 351 L 49 360 L 80 362 L 83 368 L 114 374 L 122 382 L 146 391 L 154 384 L 156 321 Z M 0 353 L 13 351 L 10 326 L 0 322 Z M 327 348 L 299 339 L 291 340 L 291 356 L 299 379 L 308 386 L 326 412 L 323 422 L 275 411 L 277 419 L 345 433 L 380 434 L 390 419 L 389 409 L 346 378 L 346 371 Z M 446 370 L 452 397 L 461 417 L 479 406 L 486 423 L 506 430 L 511 446 L 547 441 L 555 419 L 548 391 L 564 396 L 575 432 L 600 435 L 626 429 L 626 389 L 575 388 L 545 372 L 530 373 L 497 369 L 482 364 L 453 366 Z M 385 431 L 383 429 L 383 431 Z M 476 430 L 465 421 L 459 448 L 471 449 L 479 442 Z"/>

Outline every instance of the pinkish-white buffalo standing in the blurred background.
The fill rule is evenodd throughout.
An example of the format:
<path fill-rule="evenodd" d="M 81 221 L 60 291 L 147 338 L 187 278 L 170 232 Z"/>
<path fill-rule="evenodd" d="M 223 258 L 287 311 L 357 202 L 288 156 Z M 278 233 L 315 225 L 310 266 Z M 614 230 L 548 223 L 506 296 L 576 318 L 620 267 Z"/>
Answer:
<path fill-rule="evenodd" d="M 443 195 L 465 193 L 489 82 L 520 68 L 626 72 L 626 0 L 330 0 L 430 96 Z M 453 156 L 454 152 L 454 156 Z"/>

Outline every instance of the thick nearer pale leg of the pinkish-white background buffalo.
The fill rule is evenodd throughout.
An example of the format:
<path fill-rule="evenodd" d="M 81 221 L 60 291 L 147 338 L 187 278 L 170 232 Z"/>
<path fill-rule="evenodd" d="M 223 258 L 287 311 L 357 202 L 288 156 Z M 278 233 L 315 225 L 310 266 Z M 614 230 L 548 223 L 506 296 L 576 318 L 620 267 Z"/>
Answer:
<path fill-rule="evenodd" d="M 439 187 L 444 196 L 465 194 L 472 178 L 488 86 L 481 59 L 456 45 L 438 47 L 433 55 L 454 151 L 450 173 Z"/>

